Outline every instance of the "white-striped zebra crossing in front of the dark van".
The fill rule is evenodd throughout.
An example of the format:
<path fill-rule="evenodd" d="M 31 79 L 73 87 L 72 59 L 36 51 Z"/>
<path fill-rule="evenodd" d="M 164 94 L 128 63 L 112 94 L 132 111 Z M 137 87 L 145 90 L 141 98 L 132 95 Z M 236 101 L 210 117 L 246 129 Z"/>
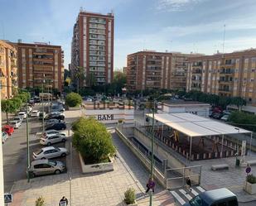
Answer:
<path fill-rule="evenodd" d="M 193 186 L 191 188 L 191 191 L 185 188 L 170 190 L 170 193 L 172 194 L 176 202 L 180 205 L 186 204 L 188 201 L 196 197 L 196 195 L 203 192 L 205 192 L 205 189 L 200 186 Z"/>

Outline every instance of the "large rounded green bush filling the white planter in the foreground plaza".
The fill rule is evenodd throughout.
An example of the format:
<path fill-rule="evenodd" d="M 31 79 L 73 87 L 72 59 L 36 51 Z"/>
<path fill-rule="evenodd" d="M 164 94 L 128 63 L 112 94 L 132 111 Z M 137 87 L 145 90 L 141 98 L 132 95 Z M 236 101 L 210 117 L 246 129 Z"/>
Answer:
<path fill-rule="evenodd" d="M 104 124 L 94 118 L 80 117 L 73 123 L 75 132 L 73 145 L 85 160 L 85 164 L 95 164 L 109 161 L 114 156 L 115 147 L 111 135 Z"/>

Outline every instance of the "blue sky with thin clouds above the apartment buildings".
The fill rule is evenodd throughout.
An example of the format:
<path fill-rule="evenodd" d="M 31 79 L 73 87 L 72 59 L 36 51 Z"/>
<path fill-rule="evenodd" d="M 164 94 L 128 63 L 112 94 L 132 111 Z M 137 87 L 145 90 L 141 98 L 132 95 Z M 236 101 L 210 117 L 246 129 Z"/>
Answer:
<path fill-rule="evenodd" d="M 114 69 L 139 50 L 212 55 L 256 48 L 255 0 L 0 0 L 0 5 L 0 39 L 62 46 L 65 68 L 80 7 L 114 12 Z"/>

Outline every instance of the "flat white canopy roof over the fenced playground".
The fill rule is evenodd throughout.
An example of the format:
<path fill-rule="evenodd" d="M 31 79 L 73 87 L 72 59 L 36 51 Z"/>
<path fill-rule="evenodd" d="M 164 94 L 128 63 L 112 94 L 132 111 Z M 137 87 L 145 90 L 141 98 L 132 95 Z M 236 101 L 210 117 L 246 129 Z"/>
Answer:
<path fill-rule="evenodd" d="M 147 117 L 152 117 L 152 113 L 147 114 Z M 189 137 L 251 133 L 248 130 L 191 113 L 157 113 L 154 118 Z"/>

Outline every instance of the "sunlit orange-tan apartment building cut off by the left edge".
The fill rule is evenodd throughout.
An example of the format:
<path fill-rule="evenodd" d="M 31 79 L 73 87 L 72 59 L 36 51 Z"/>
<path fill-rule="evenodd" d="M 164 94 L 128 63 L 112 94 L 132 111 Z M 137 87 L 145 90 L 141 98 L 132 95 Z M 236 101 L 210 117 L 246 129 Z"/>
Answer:
<path fill-rule="evenodd" d="M 17 90 L 17 50 L 8 41 L 0 41 L 1 98 L 12 98 Z"/>

